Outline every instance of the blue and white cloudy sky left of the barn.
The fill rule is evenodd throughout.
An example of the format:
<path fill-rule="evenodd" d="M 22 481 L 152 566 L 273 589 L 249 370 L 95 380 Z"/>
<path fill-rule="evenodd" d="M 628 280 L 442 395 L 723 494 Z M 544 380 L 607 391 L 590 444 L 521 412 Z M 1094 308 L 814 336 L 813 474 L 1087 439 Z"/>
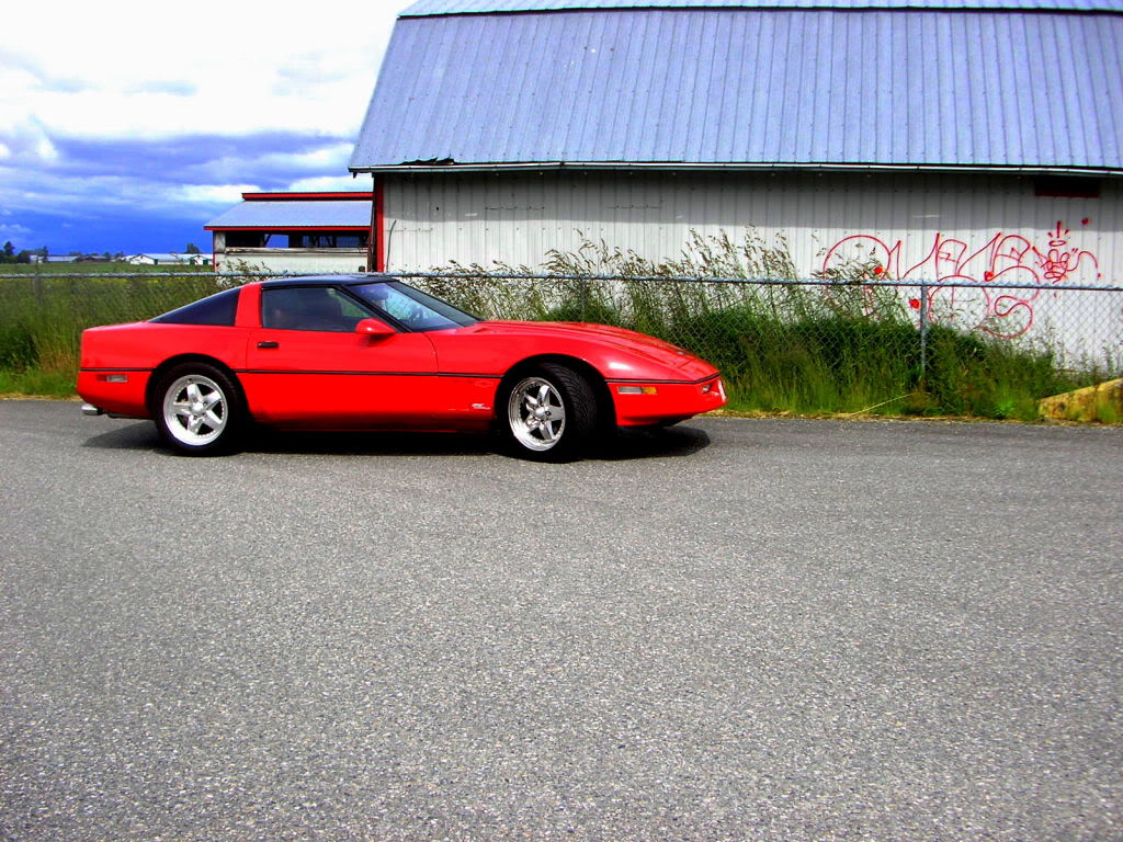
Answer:
<path fill-rule="evenodd" d="M 9 4 L 0 244 L 207 251 L 243 191 L 369 190 L 347 161 L 409 4 Z"/>

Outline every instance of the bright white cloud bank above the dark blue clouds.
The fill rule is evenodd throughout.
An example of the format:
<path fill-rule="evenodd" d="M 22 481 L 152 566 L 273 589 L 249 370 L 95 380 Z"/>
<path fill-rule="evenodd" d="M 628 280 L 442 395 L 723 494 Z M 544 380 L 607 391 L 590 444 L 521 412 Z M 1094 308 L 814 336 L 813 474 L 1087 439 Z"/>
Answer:
<path fill-rule="evenodd" d="M 0 113 L 70 137 L 270 129 L 354 135 L 408 1 L 19 3 L 0 31 Z M 200 25 L 201 21 L 201 25 Z M 42 37 L 40 37 L 42 34 Z"/>

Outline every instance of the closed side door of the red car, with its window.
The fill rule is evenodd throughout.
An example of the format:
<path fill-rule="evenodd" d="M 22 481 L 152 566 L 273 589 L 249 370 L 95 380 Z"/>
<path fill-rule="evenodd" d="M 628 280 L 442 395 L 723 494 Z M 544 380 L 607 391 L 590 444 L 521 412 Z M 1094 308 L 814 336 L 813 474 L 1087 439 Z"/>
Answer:
<path fill-rule="evenodd" d="M 243 375 L 255 417 L 302 428 L 429 425 L 432 344 L 424 333 L 356 332 L 371 314 L 332 286 L 263 289 Z"/>

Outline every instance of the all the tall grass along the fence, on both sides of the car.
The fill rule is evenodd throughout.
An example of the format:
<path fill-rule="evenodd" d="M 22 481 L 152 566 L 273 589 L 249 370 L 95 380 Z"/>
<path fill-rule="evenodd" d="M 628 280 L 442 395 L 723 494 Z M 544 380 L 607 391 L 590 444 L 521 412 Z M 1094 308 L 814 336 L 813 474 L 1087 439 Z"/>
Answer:
<path fill-rule="evenodd" d="M 722 370 L 740 410 L 1033 420 L 1039 399 L 1119 375 L 1111 361 L 1072 368 L 1048 341 L 941 326 L 928 331 L 922 370 L 921 336 L 898 291 L 856 283 L 870 267 L 833 269 L 829 284 L 789 283 L 796 271 L 786 244 L 751 231 L 741 241 L 693 235 L 678 258 L 661 263 L 586 240 L 576 251 L 550 251 L 537 268 L 454 264 L 442 274 L 412 283 L 485 318 L 617 324 L 688 348 Z M 0 278 L 0 393 L 72 393 L 84 328 L 148 319 L 225 283 L 206 268 Z"/>

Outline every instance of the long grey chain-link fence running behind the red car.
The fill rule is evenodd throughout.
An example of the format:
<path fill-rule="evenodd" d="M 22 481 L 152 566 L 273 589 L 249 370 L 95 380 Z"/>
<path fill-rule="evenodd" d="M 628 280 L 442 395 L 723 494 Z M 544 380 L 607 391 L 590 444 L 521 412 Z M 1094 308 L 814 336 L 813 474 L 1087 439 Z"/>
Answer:
<path fill-rule="evenodd" d="M 75 369 L 83 328 L 152 318 L 277 276 L 0 275 L 0 369 Z M 659 337 L 716 365 L 732 404 L 746 410 L 1029 420 L 1041 397 L 1123 375 L 1123 287 L 464 272 L 393 277 L 485 319 L 600 322 Z"/>

